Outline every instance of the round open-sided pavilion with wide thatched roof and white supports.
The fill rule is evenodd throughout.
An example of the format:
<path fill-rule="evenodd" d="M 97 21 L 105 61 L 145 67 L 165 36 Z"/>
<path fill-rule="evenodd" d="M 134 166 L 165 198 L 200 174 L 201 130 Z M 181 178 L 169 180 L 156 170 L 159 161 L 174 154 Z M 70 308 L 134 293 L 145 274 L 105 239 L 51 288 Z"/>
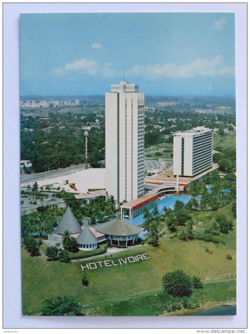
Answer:
<path fill-rule="evenodd" d="M 106 235 L 106 238 L 113 244 L 133 245 L 138 238 L 142 228 L 121 219 L 114 219 L 95 227 L 98 232 Z"/>

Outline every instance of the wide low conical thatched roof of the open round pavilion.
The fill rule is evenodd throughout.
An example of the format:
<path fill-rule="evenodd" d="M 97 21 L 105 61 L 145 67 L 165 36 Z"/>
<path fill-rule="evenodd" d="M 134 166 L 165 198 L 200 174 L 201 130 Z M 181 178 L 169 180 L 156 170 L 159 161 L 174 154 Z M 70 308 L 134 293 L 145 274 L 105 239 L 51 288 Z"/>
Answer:
<path fill-rule="evenodd" d="M 141 227 L 127 223 L 126 221 L 115 219 L 99 224 L 95 227 L 98 232 L 108 235 L 135 235 L 142 231 Z"/>

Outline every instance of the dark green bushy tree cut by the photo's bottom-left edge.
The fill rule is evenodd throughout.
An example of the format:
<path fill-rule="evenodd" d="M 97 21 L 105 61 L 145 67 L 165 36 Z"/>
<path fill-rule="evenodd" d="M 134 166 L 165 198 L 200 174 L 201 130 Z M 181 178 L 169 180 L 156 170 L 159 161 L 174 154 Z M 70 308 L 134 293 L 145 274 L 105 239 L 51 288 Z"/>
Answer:
<path fill-rule="evenodd" d="M 82 306 L 74 297 L 58 296 L 42 303 L 41 315 L 69 316 L 81 312 Z"/>

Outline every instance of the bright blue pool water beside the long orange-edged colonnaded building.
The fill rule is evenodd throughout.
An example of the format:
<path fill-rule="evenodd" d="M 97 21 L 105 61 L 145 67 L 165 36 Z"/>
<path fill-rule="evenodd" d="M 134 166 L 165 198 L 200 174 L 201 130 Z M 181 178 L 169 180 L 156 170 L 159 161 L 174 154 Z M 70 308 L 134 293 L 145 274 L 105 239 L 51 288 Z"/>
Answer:
<path fill-rule="evenodd" d="M 160 216 L 164 214 L 163 208 L 166 206 L 167 208 L 171 208 L 173 210 L 173 206 L 176 200 L 182 201 L 184 204 L 186 204 L 190 200 L 190 196 L 188 195 L 177 195 L 177 196 L 169 196 L 169 197 L 164 197 L 161 201 L 157 203 L 157 208 L 159 210 Z M 150 209 L 150 212 L 153 212 L 154 208 Z M 122 220 L 127 221 L 128 223 L 134 224 L 134 225 L 140 225 L 144 222 L 143 218 L 143 213 L 140 214 L 139 216 L 133 218 L 133 219 L 126 219 L 123 218 Z M 140 238 L 145 238 L 145 234 L 147 234 L 147 231 L 141 232 L 139 234 Z"/>

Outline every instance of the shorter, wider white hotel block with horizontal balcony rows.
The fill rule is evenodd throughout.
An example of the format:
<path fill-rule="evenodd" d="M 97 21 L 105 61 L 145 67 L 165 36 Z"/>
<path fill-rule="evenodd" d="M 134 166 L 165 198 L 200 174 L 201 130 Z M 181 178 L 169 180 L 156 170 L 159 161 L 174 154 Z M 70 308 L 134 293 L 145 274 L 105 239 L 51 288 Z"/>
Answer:
<path fill-rule="evenodd" d="M 204 126 L 173 133 L 173 174 L 195 176 L 213 164 L 213 131 Z"/>

